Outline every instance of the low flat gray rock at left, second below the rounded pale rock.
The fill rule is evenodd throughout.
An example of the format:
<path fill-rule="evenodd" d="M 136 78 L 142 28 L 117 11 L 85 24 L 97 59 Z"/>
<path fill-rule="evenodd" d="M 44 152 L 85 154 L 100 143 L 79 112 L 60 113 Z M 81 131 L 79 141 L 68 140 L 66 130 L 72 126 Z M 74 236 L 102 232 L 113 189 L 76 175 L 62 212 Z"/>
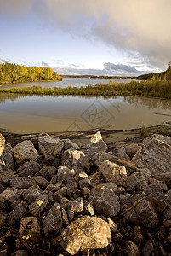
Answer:
<path fill-rule="evenodd" d="M 10 185 L 16 189 L 28 189 L 31 186 L 37 186 L 33 177 L 14 177 L 10 181 Z"/>

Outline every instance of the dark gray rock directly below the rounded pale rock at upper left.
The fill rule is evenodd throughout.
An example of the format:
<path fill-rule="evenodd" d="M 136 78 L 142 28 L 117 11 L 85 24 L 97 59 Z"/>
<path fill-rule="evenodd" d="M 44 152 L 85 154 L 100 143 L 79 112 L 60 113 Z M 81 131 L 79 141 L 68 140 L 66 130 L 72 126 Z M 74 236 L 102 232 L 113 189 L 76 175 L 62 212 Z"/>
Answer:
<path fill-rule="evenodd" d="M 19 176 L 34 176 L 40 169 L 41 166 L 37 162 L 31 160 L 20 166 L 17 173 Z"/>

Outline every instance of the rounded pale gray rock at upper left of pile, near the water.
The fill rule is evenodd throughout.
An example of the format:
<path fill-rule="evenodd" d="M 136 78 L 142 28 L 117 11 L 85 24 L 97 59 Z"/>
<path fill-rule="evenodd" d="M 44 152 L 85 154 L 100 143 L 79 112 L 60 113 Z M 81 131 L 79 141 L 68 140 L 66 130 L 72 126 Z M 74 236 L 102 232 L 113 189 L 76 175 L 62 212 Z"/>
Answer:
<path fill-rule="evenodd" d="M 24 141 L 22 143 L 17 144 L 13 148 L 14 158 L 19 166 L 24 164 L 29 160 L 36 159 L 38 156 L 37 150 L 34 148 L 33 143 L 31 141 Z"/>

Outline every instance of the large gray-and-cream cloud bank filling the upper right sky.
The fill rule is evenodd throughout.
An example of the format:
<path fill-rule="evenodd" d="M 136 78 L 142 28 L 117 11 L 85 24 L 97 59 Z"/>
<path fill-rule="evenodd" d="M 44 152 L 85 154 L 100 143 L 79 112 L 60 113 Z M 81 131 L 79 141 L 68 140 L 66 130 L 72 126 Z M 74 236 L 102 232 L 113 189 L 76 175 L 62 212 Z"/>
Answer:
<path fill-rule="evenodd" d="M 0 0 L 0 13 L 29 12 L 43 26 L 138 53 L 153 67 L 165 69 L 171 60 L 170 0 Z"/>

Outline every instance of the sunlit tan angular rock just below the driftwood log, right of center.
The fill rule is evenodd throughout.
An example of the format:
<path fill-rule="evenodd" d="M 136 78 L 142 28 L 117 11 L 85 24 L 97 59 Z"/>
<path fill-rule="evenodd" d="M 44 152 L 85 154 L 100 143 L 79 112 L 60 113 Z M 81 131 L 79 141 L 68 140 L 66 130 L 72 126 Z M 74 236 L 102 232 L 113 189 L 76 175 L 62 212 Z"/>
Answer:
<path fill-rule="evenodd" d="M 105 177 L 106 183 L 115 183 L 116 185 L 121 186 L 127 180 L 126 168 L 124 166 L 118 166 L 109 160 L 100 163 L 99 169 Z"/>

